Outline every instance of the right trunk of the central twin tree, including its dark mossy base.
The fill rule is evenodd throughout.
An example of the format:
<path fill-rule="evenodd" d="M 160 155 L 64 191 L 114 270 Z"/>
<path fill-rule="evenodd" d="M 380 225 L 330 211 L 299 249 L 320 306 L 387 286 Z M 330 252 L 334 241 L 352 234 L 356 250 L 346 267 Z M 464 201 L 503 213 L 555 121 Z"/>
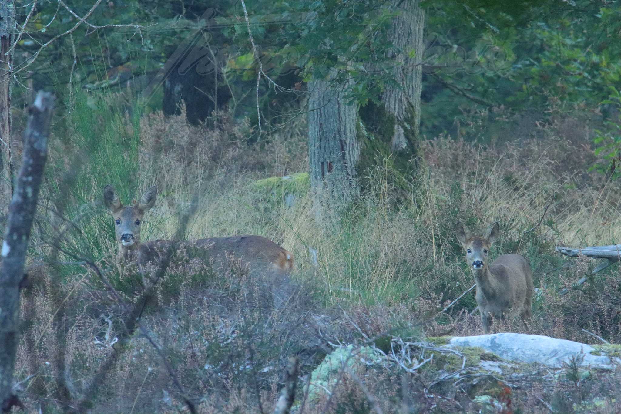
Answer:
<path fill-rule="evenodd" d="M 369 66 L 369 70 L 383 70 L 396 85 L 387 84 L 379 104 L 369 100 L 360 108 L 365 134 L 358 172 L 363 186 L 368 170 L 381 163 L 388 171 L 389 186 L 397 192 L 410 191 L 412 174 L 417 169 L 420 124 L 420 92 L 422 91 L 423 29 L 425 13 L 420 0 L 392 0 L 392 11 L 399 12 L 391 22 L 386 38 L 395 47 L 385 56 L 383 68 Z M 400 197 L 396 197 L 399 200 Z"/>

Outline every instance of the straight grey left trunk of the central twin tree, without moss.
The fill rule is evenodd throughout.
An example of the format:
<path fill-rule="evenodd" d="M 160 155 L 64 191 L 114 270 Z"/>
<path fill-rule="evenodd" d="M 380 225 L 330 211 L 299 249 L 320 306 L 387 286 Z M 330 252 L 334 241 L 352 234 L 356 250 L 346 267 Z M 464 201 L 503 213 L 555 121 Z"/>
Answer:
<path fill-rule="evenodd" d="M 335 87 L 329 79 L 309 82 L 311 188 L 317 201 L 332 207 L 347 204 L 358 194 L 358 107 L 345 104 L 350 86 Z"/>

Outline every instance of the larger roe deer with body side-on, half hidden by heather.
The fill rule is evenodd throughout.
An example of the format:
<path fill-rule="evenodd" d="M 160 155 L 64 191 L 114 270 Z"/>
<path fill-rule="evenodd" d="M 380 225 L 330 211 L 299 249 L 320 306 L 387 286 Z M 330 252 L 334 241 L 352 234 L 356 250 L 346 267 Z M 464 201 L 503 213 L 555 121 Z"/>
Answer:
<path fill-rule="evenodd" d="M 148 189 L 135 205 L 124 206 L 112 186 L 104 187 L 104 204 L 114 218 L 116 240 L 119 243 L 119 260 L 136 261 L 138 266 L 156 263 L 160 255 L 168 249 L 173 240 L 153 240 L 140 242 L 142 217 L 155 204 L 157 187 Z M 261 236 L 232 236 L 206 238 L 179 242 L 179 246 L 193 246 L 204 252 L 205 259 L 214 263 L 227 261 L 227 255 L 241 259 L 243 264 L 258 271 L 289 272 L 293 268 L 293 258 L 289 251 L 273 241 Z"/>

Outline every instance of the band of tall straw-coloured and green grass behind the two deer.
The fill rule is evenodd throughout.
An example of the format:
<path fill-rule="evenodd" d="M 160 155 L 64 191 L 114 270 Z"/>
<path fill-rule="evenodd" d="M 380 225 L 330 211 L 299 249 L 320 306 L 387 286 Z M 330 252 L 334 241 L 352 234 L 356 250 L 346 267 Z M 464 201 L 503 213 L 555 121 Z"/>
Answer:
<path fill-rule="evenodd" d="M 460 220 L 473 228 L 501 222 L 494 254 L 525 254 L 536 281 L 542 255 L 558 261 L 555 244 L 620 240 L 619 184 L 588 173 L 579 154 L 584 148 L 550 131 L 546 140 L 499 148 L 450 138 L 423 142 L 424 162 L 409 178 L 409 191 L 392 188 L 395 171 L 379 163 L 367 171 L 370 191 L 335 220 L 317 222 L 307 181 L 287 187 L 296 195 L 292 205 L 284 202 L 284 192 L 276 197 L 256 186 L 258 179 L 307 168 L 303 135 L 249 147 L 244 122 L 228 120 L 208 130 L 190 127 L 183 115 L 142 115 L 137 107 L 128 115 L 114 100 L 99 102 L 88 106 L 77 94 L 66 130 L 55 132 L 61 145 L 48 170 L 48 197 L 60 196 L 66 218 L 76 224 L 65 248 L 96 258 L 115 249 L 112 222 L 100 202 L 106 184 L 126 204 L 158 186 L 156 207 L 145 217 L 145 240 L 170 238 L 179 215 L 198 200 L 188 238 L 271 238 L 294 253 L 297 274 L 325 287 L 329 303 L 458 295 L 472 282 L 453 232 Z"/>

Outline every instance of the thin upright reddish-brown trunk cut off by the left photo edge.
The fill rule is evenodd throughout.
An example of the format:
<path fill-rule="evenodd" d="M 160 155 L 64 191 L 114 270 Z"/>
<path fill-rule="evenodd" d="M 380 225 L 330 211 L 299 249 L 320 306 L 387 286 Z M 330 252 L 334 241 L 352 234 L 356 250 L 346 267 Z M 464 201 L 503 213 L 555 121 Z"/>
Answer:
<path fill-rule="evenodd" d="M 9 212 L 12 197 L 11 168 L 11 66 L 9 49 L 15 32 L 13 0 L 0 2 L 0 223 Z"/>

